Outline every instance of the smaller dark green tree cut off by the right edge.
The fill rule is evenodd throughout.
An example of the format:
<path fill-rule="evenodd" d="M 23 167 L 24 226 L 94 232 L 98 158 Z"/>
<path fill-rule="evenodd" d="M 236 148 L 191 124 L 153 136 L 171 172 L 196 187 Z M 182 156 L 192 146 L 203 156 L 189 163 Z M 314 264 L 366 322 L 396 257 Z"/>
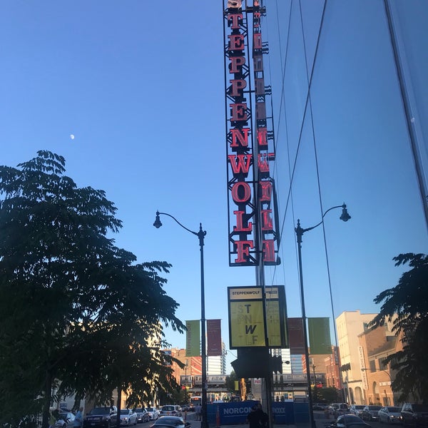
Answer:
<path fill-rule="evenodd" d="M 406 253 L 393 260 L 396 266 L 407 264 L 411 269 L 401 275 L 395 287 L 374 298 L 382 307 L 371 326 L 380 327 L 388 320 L 401 337 L 402 351 L 384 362 L 396 371 L 392 389 L 400 392 L 399 400 L 412 397 L 428 403 L 428 257 Z"/>

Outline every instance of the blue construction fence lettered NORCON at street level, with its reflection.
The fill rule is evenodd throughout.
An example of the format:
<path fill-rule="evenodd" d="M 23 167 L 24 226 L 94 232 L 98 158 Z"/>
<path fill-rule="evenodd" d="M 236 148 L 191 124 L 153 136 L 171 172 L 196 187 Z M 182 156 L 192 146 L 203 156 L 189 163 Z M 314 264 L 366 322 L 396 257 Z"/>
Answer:
<path fill-rule="evenodd" d="M 208 423 L 220 425 L 245 424 L 248 413 L 257 401 L 207 404 Z M 275 424 L 299 424 L 309 422 L 307 402 L 272 402 Z"/>

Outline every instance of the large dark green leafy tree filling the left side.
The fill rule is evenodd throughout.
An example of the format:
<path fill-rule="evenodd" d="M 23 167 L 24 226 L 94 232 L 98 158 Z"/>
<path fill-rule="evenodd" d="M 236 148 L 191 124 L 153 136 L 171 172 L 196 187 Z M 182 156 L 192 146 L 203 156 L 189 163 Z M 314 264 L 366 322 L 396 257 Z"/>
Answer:
<path fill-rule="evenodd" d="M 170 265 L 117 248 L 116 207 L 64 173 L 48 151 L 0 166 L 0 424 L 42 413 L 46 428 L 64 394 L 110 402 L 117 387 L 140 404 L 177 386 L 161 351 L 161 322 L 185 328 L 159 276 Z"/>

